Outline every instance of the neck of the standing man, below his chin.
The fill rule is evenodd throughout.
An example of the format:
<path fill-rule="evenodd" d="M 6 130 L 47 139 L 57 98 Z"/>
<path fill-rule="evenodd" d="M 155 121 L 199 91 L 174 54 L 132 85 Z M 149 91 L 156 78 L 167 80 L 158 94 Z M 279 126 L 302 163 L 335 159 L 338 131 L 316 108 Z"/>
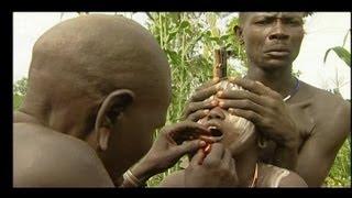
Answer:
<path fill-rule="evenodd" d="M 257 66 L 250 66 L 246 78 L 261 81 L 283 97 L 288 96 L 296 85 L 296 79 L 292 75 L 290 66 L 272 70 L 264 70 Z"/>

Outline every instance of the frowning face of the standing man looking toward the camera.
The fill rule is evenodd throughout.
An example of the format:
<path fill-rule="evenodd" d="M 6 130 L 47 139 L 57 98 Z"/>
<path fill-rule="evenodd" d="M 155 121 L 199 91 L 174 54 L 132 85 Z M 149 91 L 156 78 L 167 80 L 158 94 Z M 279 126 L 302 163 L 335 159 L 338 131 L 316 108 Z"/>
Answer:
<path fill-rule="evenodd" d="M 240 36 L 250 64 L 266 69 L 292 65 L 304 37 L 302 12 L 248 13 Z"/>

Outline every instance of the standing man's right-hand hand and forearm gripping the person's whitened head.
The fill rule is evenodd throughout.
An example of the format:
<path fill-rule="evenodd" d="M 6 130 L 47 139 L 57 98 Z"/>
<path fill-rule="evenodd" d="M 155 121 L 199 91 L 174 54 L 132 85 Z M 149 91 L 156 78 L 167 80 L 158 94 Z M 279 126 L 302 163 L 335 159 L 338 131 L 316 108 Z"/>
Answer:
<path fill-rule="evenodd" d="M 245 90 L 220 90 L 219 107 L 245 118 L 256 131 L 276 143 L 274 164 L 295 170 L 298 160 L 300 132 L 283 97 L 258 81 L 230 79 Z"/>

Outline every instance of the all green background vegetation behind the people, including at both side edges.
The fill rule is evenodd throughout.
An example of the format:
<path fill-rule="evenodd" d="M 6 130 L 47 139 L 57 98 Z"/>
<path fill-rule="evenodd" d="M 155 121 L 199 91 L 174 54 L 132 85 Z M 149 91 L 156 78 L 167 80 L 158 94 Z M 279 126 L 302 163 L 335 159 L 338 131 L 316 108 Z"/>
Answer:
<path fill-rule="evenodd" d="M 80 12 L 80 14 L 88 13 Z M 168 108 L 166 124 L 179 121 L 186 100 L 194 89 L 211 79 L 213 50 L 226 47 L 231 52 L 228 59 L 229 76 L 243 76 L 246 73 L 244 50 L 233 34 L 233 26 L 239 22 L 237 16 L 228 19 L 226 28 L 220 30 L 217 24 L 220 20 L 229 18 L 229 13 L 146 12 L 146 14 L 148 16 L 147 29 L 166 53 L 172 67 L 173 99 Z M 346 55 L 350 54 L 341 48 L 343 45 L 329 50 L 329 52 L 333 51 L 339 57 L 343 56 L 346 59 Z M 342 55 L 340 56 L 339 53 Z M 294 70 L 295 76 L 299 77 L 299 70 Z M 22 78 L 13 85 L 14 110 L 21 106 L 25 96 L 26 81 L 26 78 Z M 339 91 L 332 92 L 339 94 Z M 155 132 L 155 136 L 157 133 L 158 131 Z M 147 182 L 147 185 L 150 187 L 157 186 L 165 176 L 179 169 L 179 164 L 180 162 L 165 173 L 155 175 Z M 324 186 L 351 187 L 351 135 L 336 157 Z"/>

